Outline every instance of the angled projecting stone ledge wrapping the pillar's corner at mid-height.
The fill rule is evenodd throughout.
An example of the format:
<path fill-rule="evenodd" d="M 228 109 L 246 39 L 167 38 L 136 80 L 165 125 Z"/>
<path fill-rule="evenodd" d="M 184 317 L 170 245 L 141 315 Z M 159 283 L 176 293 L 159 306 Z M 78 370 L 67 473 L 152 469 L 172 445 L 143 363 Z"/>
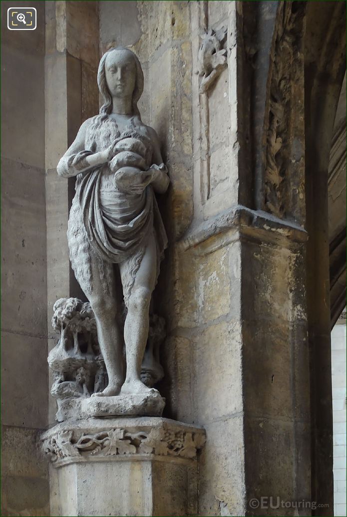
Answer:
<path fill-rule="evenodd" d="M 307 240 L 306 230 L 298 224 L 283 221 L 262 210 L 256 211 L 236 205 L 222 214 L 192 227 L 178 241 L 178 246 L 186 251 L 199 246 L 211 237 L 230 230 L 238 231 L 240 235 L 249 239 L 262 240 L 285 247 L 290 247 L 293 243 L 303 244 Z"/>

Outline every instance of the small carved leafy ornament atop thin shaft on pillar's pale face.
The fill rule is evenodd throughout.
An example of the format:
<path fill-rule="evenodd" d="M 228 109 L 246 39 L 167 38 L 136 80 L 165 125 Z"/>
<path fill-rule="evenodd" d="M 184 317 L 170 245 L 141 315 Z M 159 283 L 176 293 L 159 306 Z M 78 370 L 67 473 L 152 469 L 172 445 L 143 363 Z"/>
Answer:
<path fill-rule="evenodd" d="M 216 81 L 223 68 L 227 66 L 227 50 L 223 43 L 227 38 L 227 28 L 222 27 L 217 32 L 209 29 L 202 37 L 198 54 L 199 75 L 202 77 L 199 93 L 207 92 Z"/>

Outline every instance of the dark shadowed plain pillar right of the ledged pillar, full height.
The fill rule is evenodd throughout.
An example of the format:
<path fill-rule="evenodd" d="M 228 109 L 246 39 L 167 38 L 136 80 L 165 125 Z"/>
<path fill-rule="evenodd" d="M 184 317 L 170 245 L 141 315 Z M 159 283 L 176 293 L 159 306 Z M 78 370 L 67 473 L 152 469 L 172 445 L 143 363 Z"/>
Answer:
<path fill-rule="evenodd" d="M 307 313 L 310 344 L 312 499 L 334 509 L 328 171 L 334 120 L 345 74 L 344 4 L 308 5 L 305 54 Z M 328 26 L 323 20 L 329 20 Z M 323 51 L 321 49 L 324 49 Z M 330 263 L 331 264 L 331 263 Z"/>

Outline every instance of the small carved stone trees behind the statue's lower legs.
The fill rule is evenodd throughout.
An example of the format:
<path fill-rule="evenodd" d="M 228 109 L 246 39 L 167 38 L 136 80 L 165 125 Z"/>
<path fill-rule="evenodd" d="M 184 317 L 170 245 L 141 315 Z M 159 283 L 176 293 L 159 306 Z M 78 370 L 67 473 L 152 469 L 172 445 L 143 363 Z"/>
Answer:
<path fill-rule="evenodd" d="M 48 363 L 53 372 L 51 394 L 56 398 L 58 406 L 56 419 L 63 421 L 83 418 L 83 415 L 88 416 L 84 414 L 83 402 L 90 399 L 93 393 L 102 391 L 108 384 L 98 343 L 95 315 L 90 303 L 84 303 L 78 298 L 61 298 L 55 302 L 53 309 L 52 326 L 60 333 L 60 337 L 49 353 Z M 125 317 L 126 308 L 120 318 L 120 326 L 124 325 Z M 156 314 L 150 315 L 147 345 L 141 367 L 142 382 L 148 387 L 154 386 L 163 377 L 159 347 L 164 338 L 163 318 Z M 124 408 L 124 400 L 119 407 Z"/>

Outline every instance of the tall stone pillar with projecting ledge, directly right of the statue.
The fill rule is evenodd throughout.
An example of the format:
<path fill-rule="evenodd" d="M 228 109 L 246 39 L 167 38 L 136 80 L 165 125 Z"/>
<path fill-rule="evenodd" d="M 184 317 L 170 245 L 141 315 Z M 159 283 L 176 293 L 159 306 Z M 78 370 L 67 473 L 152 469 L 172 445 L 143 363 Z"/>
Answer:
<path fill-rule="evenodd" d="M 303 12 L 292 6 L 259 3 L 256 24 L 247 3 L 190 4 L 194 213 L 165 276 L 163 393 L 175 418 L 206 429 L 200 515 L 293 515 L 292 501 L 310 501 Z M 257 85 L 264 102 L 252 105 Z"/>

